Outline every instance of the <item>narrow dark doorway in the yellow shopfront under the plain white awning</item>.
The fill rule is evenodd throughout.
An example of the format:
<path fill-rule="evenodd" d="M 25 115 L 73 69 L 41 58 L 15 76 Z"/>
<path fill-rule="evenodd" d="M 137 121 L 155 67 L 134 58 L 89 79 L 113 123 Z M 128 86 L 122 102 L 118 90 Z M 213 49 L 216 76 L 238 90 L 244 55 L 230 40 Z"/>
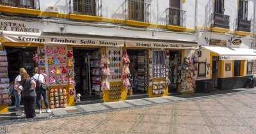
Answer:
<path fill-rule="evenodd" d="M 218 87 L 218 56 L 212 56 L 212 88 Z"/>

